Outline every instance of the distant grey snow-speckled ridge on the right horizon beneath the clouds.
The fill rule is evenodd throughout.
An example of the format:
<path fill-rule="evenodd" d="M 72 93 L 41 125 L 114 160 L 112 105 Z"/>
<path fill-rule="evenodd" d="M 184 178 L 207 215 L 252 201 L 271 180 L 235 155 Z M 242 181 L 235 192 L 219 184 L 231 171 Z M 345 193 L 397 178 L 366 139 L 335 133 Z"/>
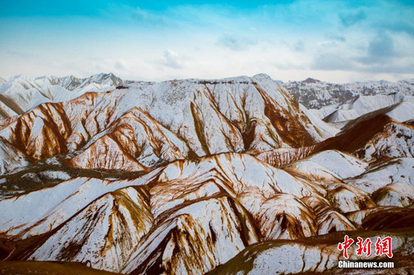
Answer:
<path fill-rule="evenodd" d="M 344 103 L 356 98 L 358 95 L 387 95 L 391 93 L 414 95 L 414 82 L 410 80 L 398 82 L 381 80 L 335 84 L 307 78 L 303 81 L 289 81 L 282 85 L 290 90 L 298 101 L 308 109 Z"/>

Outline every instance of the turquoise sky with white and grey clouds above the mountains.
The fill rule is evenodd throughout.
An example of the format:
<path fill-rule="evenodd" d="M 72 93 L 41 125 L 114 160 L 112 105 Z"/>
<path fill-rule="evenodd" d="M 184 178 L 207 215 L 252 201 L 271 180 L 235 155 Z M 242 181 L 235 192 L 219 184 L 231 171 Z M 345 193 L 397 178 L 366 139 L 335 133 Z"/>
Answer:
<path fill-rule="evenodd" d="M 0 76 L 414 78 L 414 1 L 13 0 Z"/>

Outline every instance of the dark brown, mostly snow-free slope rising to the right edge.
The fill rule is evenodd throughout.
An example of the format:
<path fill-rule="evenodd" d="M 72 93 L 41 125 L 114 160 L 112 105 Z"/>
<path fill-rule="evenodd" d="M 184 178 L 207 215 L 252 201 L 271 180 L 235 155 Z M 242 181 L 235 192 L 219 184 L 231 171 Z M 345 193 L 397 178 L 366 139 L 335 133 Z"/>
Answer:
<path fill-rule="evenodd" d="M 324 150 L 339 150 L 365 161 L 381 157 L 413 157 L 413 137 L 412 125 L 379 114 L 312 146 L 277 148 L 257 154 L 256 157 L 274 166 L 282 166 Z"/>

